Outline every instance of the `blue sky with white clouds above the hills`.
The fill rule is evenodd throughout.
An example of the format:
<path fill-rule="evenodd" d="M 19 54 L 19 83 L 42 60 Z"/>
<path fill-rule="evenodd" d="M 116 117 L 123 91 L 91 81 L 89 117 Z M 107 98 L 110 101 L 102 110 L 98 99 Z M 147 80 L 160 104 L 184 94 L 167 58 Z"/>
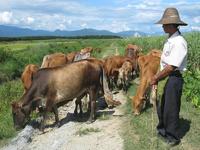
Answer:
<path fill-rule="evenodd" d="M 181 31 L 200 31 L 199 0 L 0 0 L 0 24 L 54 31 L 94 28 L 113 32 L 160 32 L 165 8 L 176 7 L 188 23 Z"/>

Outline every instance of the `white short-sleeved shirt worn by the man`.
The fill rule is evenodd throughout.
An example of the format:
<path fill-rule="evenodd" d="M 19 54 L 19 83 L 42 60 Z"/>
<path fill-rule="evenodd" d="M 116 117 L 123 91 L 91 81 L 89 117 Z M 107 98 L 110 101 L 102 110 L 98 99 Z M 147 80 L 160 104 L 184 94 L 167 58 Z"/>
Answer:
<path fill-rule="evenodd" d="M 166 65 L 176 66 L 181 72 L 186 70 L 187 65 L 187 42 L 175 32 L 164 44 L 160 60 L 160 69 L 163 70 Z"/>

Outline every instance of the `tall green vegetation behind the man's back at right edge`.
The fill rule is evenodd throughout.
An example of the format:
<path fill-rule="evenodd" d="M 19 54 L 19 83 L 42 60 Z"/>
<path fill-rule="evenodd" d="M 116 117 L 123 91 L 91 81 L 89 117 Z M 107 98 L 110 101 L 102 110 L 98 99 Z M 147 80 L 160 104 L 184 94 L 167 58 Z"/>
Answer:
<path fill-rule="evenodd" d="M 188 42 L 188 66 L 184 74 L 186 100 L 200 108 L 200 32 L 186 34 Z"/>

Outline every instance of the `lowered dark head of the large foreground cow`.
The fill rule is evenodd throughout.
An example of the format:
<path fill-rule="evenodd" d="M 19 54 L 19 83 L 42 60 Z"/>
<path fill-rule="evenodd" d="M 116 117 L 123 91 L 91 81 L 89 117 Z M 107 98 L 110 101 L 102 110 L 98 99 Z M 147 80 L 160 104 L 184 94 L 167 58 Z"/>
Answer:
<path fill-rule="evenodd" d="M 19 102 L 12 102 L 11 105 L 14 127 L 21 129 L 29 120 L 30 107 L 29 105 L 22 107 L 22 104 Z"/>

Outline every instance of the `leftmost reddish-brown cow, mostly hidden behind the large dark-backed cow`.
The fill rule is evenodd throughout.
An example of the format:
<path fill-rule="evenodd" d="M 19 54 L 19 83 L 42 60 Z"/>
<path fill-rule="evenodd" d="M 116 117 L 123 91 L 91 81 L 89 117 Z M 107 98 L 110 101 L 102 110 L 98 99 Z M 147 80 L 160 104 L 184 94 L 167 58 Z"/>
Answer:
<path fill-rule="evenodd" d="M 30 88 L 32 84 L 33 75 L 38 71 L 39 67 L 34 64 L 29 64 L 25 67 L 21 80 L 24 86 L 24 93 Z"/>

